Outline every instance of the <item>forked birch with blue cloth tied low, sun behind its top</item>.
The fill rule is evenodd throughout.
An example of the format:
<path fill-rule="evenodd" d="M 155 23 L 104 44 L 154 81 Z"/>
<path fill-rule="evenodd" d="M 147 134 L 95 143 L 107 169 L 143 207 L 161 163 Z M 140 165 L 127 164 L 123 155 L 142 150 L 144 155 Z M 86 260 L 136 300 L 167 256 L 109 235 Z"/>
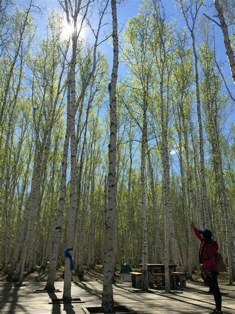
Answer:
<path fill-rule="evenodd" d="M 93 34 L 95 36 L 94 50 L 93 50 L 93 67 L 90 72 L 86 83 L 83 85 L 81 93 L 76 99 L 76 58 L 77 58 L 77 45 L 79 34 L 83 25 L 83 22 L 86 18 L 88 8 L 91 1 L 88 0 L 84 3 L 81 1 L 72 2 L 71 0 L 65 0 L 64 4 L 60 2 L 64 12 L 66 13 L 66 19 L 68 25 L 72 26 L 73 32 L 71 34 L 72 41 L 72 55 L 69 65 L 69 74 L 68 74 L 68 87 L 67 87 L 67 103 L 69 110 L 68 114 L 68 124 L 69 124 L 69 133 L 70 133 L 70 184 L 69 184 L 69 211 L 68 211 L 68 234 L 66 240 L 66 248 L 65 248 L 65 266 L 64 266 L 64 289 L 63 289 L 63 300 L 71 301 L 71 270 L 73 268 L 73 241 L 74 241 L 74 230 L 75 230 L 75 191 L 76 191 L 76 153 L 77 153 L 77 145 L 76 145 L 76 132 L 75 132 L 75 115 L 78 106 L 80 105 L 81 100 L 84 97 L 84 93 L 86 88 L 94 74 L 96 68 L 96 49 L 98 45 L 99 31 L 101 28 L 102 19 L 104 13 L 106 11 L 108 1 L 105 2 L 104 7 L 99 12 L 99 23 L 97 27 L 97 31 L 91 27 Z M 80 17 L 80 28 L 77 28 L 78 19 Z M 89 24 L 90 25 L 90 24 Z"/>

